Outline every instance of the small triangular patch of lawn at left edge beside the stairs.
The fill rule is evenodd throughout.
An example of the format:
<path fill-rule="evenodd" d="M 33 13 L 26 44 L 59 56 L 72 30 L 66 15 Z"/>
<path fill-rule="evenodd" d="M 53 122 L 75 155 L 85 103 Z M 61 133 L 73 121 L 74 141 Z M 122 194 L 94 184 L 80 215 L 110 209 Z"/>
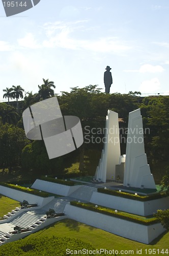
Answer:
<path fill-rule="evenodd" d="M 0 220 L 17 206 L 20 206 L 18 201 L 0 195 Z"/>

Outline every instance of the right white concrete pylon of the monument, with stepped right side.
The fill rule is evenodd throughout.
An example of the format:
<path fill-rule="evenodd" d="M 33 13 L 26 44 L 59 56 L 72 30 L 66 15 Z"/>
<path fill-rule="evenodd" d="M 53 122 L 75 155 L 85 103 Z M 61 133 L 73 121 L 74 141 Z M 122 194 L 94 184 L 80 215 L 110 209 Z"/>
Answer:
<path fill-rule="evenodd" d="M 156 189 L 144 145 L 140 109 L 129 113 L 124 186 Z"/>

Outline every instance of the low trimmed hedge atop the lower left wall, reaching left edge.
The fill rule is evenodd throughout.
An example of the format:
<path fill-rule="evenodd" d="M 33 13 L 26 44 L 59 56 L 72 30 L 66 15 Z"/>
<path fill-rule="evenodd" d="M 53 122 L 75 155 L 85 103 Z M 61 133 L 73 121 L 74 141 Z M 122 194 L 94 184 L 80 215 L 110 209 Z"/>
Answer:
<path fill-rule="evenodd" d="M 22 192 L 29 193 L 29 194 L 32 194 L 32 195 L 36 195 L 36 196 L 39 196 L 39 197 L 48 197 L 49 196 L 48 193 L 46 193 L 44 191 L 40 192 L 39 190 L 33 189 L 33 188 L 26 188 L 26 187 L 16 186 L 14 184 L 8 184 L 8 183 L 0 183 L 0 185 L 4 186 L 4 187 L 17 189 L 17 190 L 20 190 Z"/>

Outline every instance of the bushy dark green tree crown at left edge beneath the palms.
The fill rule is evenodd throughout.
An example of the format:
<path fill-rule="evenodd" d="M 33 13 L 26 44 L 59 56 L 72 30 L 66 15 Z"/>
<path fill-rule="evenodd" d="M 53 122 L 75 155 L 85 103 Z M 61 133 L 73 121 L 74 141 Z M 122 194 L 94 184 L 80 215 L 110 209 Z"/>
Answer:
<path fill-rule="evenodd" d="M 18 121 L 18 114 L 15 108 L 6 103 L 0 103 L 0 117 L 3 124 L 16 124 Z"/>

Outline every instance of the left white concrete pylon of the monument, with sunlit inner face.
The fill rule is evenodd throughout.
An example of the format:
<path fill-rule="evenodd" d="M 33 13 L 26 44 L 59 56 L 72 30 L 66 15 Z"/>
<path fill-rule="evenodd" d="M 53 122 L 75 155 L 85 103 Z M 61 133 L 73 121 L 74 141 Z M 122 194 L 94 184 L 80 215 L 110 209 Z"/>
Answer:
<path fill-rule="evenodd" d="M 111 110 L 107 111 L 104 136 L 104 148 L 95 174 L 95 179 L 102 182 L 115 179 L 116 164 L 119 164 L 120 138 L 118 113 Z"/>

